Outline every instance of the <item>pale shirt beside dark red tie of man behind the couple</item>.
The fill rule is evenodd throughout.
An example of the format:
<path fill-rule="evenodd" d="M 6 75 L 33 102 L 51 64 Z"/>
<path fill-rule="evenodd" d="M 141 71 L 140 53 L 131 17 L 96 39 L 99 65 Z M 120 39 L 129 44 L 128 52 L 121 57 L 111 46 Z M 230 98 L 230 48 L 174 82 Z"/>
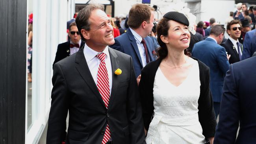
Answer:
<path fill-rule="evenodd" d="M 147 59 L 146 59 L 145 48 L 144 48 L 143 44 L 141 43 L 142 37 L 138 33 L 136 33 L 134 30 L 132 30 L 131 28 L 130 28 L 130 30 L 136 40 L 137 46 L 139 48 L 139 55 L 141 56 L 142 65 L 144 67 L 145 65 L 147 65 Z"/>

